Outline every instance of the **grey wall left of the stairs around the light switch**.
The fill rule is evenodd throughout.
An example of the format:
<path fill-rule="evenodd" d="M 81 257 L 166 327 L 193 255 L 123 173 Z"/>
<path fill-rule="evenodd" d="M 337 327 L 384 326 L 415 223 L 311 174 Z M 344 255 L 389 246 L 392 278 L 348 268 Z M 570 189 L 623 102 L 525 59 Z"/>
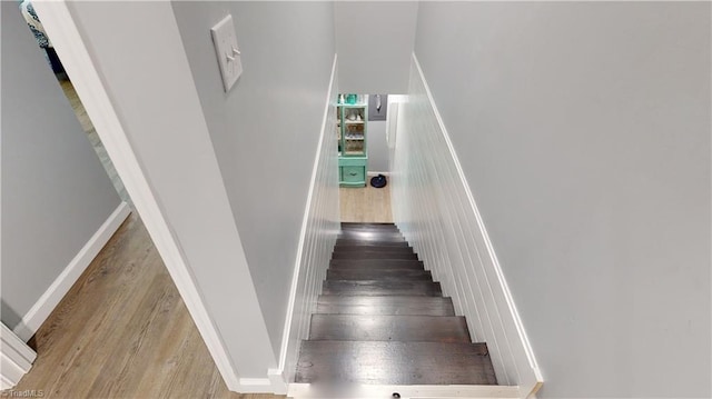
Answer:
<path fill-rule="evenodd" d="M 172 8 L 279 352 L 335 53 L 334 7 L 174 1 Z M 225 93 L 209 29 L 227 13 L 235 20 L 245 71 Z"/>

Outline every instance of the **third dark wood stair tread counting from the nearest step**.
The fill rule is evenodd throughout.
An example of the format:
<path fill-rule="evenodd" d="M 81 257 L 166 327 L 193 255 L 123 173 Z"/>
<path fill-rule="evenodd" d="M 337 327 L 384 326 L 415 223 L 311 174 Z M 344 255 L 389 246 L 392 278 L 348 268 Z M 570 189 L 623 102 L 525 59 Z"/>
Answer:
<path fill-rule="evenodd" d="M 455 316 L 451 298 L 415 296 L 322 295 L 317 301 L 317 312 L 329 315 Z"/>

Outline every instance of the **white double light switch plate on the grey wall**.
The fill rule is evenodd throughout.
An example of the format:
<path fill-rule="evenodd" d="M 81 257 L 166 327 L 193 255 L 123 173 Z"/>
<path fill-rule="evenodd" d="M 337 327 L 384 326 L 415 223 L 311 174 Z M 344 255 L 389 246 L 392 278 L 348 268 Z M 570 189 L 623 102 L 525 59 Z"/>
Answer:
<path fill-rule="evenodd" d="M 220 22 L 210 29 L 212 34 L 212 44 L 215 44 L 215 53 L 220 64 L 220 74 L 222 76 L 222 86 L 225 92 L 237 81 L 243 74 L 243 60 L 240 59 L 239 47 L 237 46 L 237 34 L 233 24 L 233 16 L 225 17 Z"/>

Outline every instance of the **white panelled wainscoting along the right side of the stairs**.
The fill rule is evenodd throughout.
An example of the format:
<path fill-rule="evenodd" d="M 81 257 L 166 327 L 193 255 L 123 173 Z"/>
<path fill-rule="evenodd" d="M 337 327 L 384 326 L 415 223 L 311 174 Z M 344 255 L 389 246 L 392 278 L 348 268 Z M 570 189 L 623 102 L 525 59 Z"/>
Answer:
<path fill-rule="evenodd" d="M 394 220 L 474 341 L 486 342 L 501 385 L 535 393 L 542 375 L 474 196 L 413 54 L 407 101 L 399 104 L 392 171 Z"/>

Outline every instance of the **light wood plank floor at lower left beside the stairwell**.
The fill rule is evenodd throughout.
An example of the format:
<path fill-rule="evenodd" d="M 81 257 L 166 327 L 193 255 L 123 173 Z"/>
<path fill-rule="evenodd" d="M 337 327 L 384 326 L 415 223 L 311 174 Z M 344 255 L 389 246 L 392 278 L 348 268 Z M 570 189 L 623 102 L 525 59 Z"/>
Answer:
<path fill-rule="evenodd" d="M 140 219 L 131 215 L 31 343 L 14 391 L 46 398 L 284 398 L 229 392 Z M 6 392 L 8 395 L 8 392 Z"/>

